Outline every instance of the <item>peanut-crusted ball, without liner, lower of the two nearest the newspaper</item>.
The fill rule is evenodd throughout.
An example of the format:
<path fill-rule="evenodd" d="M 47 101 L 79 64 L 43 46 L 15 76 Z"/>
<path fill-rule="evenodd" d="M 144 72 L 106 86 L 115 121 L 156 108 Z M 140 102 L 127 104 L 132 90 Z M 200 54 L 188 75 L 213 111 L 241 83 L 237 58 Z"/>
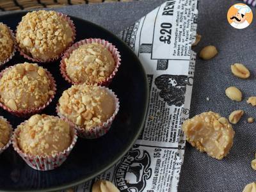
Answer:
<path fill-rule="evenodd" d="M 106 122 L 115 111 L 113 96 L 101 86 L 80 84 L 62 93 L 60 113 L 84 129 Z"/>

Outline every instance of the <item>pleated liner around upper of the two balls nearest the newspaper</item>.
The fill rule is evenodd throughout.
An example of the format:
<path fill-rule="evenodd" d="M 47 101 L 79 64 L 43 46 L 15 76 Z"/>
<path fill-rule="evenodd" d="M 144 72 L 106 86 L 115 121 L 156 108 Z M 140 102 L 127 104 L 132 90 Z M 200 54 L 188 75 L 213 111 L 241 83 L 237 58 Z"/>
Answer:
<path fill-rule="evenodd" d="M 102 40 L 100 38 L 86 38 L 84 40 L 76 42 L 74 45 L 69 47 L 69 49 L 62 56 L 61 63 L 60 63 L 60 72 L 61 72 L 61 75 L 63 76 L 63 78 L 66 81 L 68 81 L 68 83 L 71 83 L 71 84 L 83 84 L 83 83 L 79 83 L 79 82 L 74 82 L 74 81 L 72 81 L 72 79 L 70 79 L 70 77 L 68 77 L 68 74 L 67 74 L 67 71 L 66 71 L 65 58 L 69 58 L 70 54 L 75 49 L 77 49 L 79 46 L 84 45 L 84 44 L 92 44 L 92 43 L 97 43 L 97 44 L 104 45 L 104 47 L 106 47 L 108 49 L 108 51 L 111 52 L 111 54 L 112 54 L 112 56 L 113 56 L 113 58 L 115 60 L 115 69 L 113 70 L 112 74 L 107 79 L 105 79 L 105 81 L 97 83 L 97 85 L 108 86 L 109 83 L 111 83 L 113 77 L 116 75 L 116 72 L 118 71 L 118 67 L 121 64 L 120 63 L 121 56 L 120 56 L 120 52 L 118 52 L 118 50 L 116 49 L 115 45 L 109 43 L 106 40 Z"/>

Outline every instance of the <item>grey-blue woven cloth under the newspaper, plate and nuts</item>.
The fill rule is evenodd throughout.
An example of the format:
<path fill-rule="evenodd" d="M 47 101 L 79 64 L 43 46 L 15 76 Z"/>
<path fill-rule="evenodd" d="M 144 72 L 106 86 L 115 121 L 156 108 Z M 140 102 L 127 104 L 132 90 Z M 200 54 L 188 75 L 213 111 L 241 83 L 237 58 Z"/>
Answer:
<path fill-rule="evenodd" d="M 132 3 L 106 3 L 54 8 L 82 19 L 90 20 L 114 33 L 118 33 L 143 17 L 164 0 L 135 1 Z M 256 172 L 250 163 L 255 158 L 256 124 L 246 118 L 256 118 L 256 107 L 246 104 L 246 98 L 256 96 L 255 40 L 256 21 L 246 29 L 234 29 L 227 22 L 228 8 L 239 1 L 200 1 L 198 33 L 201 42 L 195 47 L 199 52 L 205 45 L 215 45 L 218 56 L 209 61 L 196 61 L 190 116 L 204 111 L 216 111 L 228 116 L 236 109 L 246 115 L 234 125 L 234 147 L 222 161 L 212 159 L 186 145 L 184 165 L 180 175 L 179 191 L 242 191 L 249 182 L 256 181 Z M 255 8 L 252 8 L 255 13 Z M 0 12 L 0 15 L 4 12 Z M 255 13 L 256 15 L 256 13 Z M 231 63 L 244 63 L 252 72 L 250 79 L 232 76 Z M 237 86 L 243 91 L 242 102 L 233 102 L 225 96 L 227 86 Z M 209 101 L 206 100 L 209 97 Z"/>

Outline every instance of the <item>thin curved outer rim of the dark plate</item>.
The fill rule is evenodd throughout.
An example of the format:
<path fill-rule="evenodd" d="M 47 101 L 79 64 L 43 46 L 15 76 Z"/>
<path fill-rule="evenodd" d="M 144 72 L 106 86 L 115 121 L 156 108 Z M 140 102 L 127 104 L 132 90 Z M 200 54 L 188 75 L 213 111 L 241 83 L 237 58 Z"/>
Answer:
<path fill-rule="evenodd" d="M 0 15 L 0 19 L 1 17 L 8 17 L 8 16 L 13 16 L 13 15 L 19 15 L 20 13 L 28 13 L 28 12 L 32 12 L 33 10 L 31 11 L 19 11 L 19 12 L 13 12 L 13 13 L 7 13 L 7 14 L 4 14 L 4 15 Z M 55 11 L 55 10 L 54 10 Z M 58 10 L 56 10 L 56 12 L 58 12 Z M 98 25 L 98 24 L 95 24 L 89 20 L 85 20 L 85 19 L 81 19 L 79 17 L 76 17 L 76 16 L 72 16 L 72 15 L 68 15 L 68 17 L 73 17 L 77 20 L 82 20 L 82 21 L 85 21 L 85 22 L 88 22 L 89 24 L 91 24 L 92 26 L 95 26 L 97 28 L 100 28 L 102 31 L 105 31 L 113 36 L 115 36 L 115 38 L 117 38 L 120 43 L 122 43 L 122 45 L 124 45 L 124 47 L 126 47 L 127 49 L 129 49 L 132 54 L 134 54 L 136 60 L 138 60 L 138 63 L 140 63 L 140 67 L 141 67 L 141 70 L 143 71 L 143 79 L 146 83 L 146 88 L 145 88 L 145 96 L 144 96 L 144 106 L 145 106 L 145 109 L 143 111 L 143 118 L 141 118 L 141 122 L 140 122 L 140 127 L 136 133 L 136 136 L 134 137 L 134 139 L 132 140 L 132 142 L 130 143 L 130 145 L 128 145 L 125 150 L 122 152 L 122 154 L 120 154 L 120 156 L 118 156 L 115 161 L 113 161 L 112 163 L 110 163 L 108 166 L 106 166 L 105 168 L 102 168 L 102 170 L 100 170 L 99 172 L 97 173 L 94 173 L 92 174 L 90 177 L 87 177 L 86 179 L 78 179 L 74 182 L 68 182 L 66 184 L 61 184 L 61 185 L 58 185 L 58 186 L 54 186 L 54 187 L 50 187 L 50 188 L 45 188 L 45 189 L 36 189 L 36 191 L 42 191 L 42 192 L 47 192 L 47 191 L 61 191 L 63 189 L 68 189 L 68 188 L 72 188 L 74 186 L 78 186 L 79 184 L 83 184 L 84 182 L 87 182 L 88 180 L 92 180 L 93 178 L 97 177 L 98 175 L 100 175 L 101 173 L 104 173 L 106 172 L 107 170 L 109 170 L 109 168 L 111 168 L 112 166 L 114 166 L 122 157 L 125 156 L 125 154 L 127 154 L 127 152 L 129 152 L 129 150 L 132 148 L 132 146 L 134 145 L 134 143 L 136 142 L 136 140 L 138 140 L 138 137 L 140 136 L 141 134 L 141 131 L 143 130 L 143 127 L 144 127 L 144 124 L 145 124 L 145 119 L 146 119 L 146 116 L 147 116 L 147 111 L 148 111 L 148 103 L 149 103 L 149 85 L 148 85 L 148 79 L 147 79 L 147 74 L 145 72 L 145 68 L 143 67 L 141 61 L 139 60 L 138 56 L 132 51 L 132 49 L 127 45 L 125 44 L 125 42 L 119 38 L 118 36 L 116 36 L 113 32 L 109 31 L 108 29 L 105 29 L 103 28 L 102 26 Z M 125 29 L 124 29 L 125 30 Z M 122 61 L 121 61 L 122 62 Z M 0 191 L 13 191 L 13 190 L 1 190 Z M 17 191 L 17 190 L 15 190 Z M 31 192 L 31 191 L 35 191 L 34 190 L 19 190 L 19 191 L 28 191 L 28 192 Z"/>

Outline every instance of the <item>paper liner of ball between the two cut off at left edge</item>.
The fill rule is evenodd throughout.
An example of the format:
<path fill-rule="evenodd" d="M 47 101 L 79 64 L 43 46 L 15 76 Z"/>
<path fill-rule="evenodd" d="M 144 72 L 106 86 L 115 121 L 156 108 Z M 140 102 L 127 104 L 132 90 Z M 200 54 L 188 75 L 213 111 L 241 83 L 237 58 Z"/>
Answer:
<path fill-rule="evenodd" d="M 14 65 L 15 66 L 15 65 Z M 0 72 L 0 79 L 3 77 L 3 73 L 6 72 L 7 70 L 10 70 L 13 66 L 5 68 L 4 70 L 2 70 Z M 8 106 L 4 105 L 2 102 L 0 102 L 0 108 L 3 108 L 4 110 L 8 111 L 9 113 L 12 113 L 13 115 L 16 116 L 20 116 L 20 117 L 28 117 L 31 116 L 33 114 L 36 113 L 40 113 L 44 108 L 46 108 L 47 106 L 49 106 L 49 104 L 52 102 L 52 99 L 54 99 L 54 96 L 56 94 L 56 82 L 54 80 L 54 78 L 52 77 L 52 74 L 46 69 L 44 68 L 47 76 L 49 77 L 50 81 L 51 81 L 51 88 L 50 90 L 52 90 L 54 93 L 52 95 L 50 95 L 48 101 L 43 105 L 40 106 L 38 108 L 31 108 L 31 109 L 22 109 L 22 110 L 13 110 L 8 108 Z"/>

